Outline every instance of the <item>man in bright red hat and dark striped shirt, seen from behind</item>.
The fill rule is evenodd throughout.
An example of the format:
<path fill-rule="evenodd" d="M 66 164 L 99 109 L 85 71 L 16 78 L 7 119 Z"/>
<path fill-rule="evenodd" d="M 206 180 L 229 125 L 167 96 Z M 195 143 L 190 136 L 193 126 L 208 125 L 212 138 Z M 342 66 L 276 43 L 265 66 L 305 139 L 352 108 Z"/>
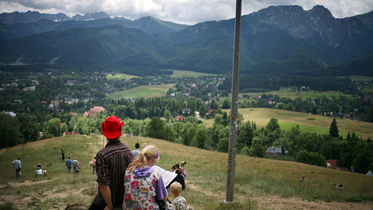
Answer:
<path fill-rule="evenodd" d="M 123 179 L 127 166 L 132 163 L 132 152 L 119 140 L 123 122 L 110 116 L 101 124 L 107 144 L 96 155 L 98 192 L 90 210 L 111 210 L 123 203 Z"/>

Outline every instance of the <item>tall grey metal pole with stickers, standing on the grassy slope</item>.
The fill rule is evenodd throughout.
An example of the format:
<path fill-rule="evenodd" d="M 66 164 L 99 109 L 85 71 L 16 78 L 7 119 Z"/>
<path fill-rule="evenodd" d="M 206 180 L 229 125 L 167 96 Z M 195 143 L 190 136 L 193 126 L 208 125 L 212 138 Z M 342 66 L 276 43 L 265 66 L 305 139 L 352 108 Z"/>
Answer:
<path fill-rule="evenodd" d="M 238 75 L 239 75 L 239 42 L 241 35 L 241 4 L 242 0 L 236 0 L 236 25 L 233 53 L 233 76 L 232 76 L 232 101 L 231 101 L 231 124 L 229 130 L 229 150 L 227 169 L 227 191 L 225 200 L 221 204 L 233 204 L 234 182 L 236 170 L 236 144 L 237 144 L 237 113 L 238 113 Z"/>

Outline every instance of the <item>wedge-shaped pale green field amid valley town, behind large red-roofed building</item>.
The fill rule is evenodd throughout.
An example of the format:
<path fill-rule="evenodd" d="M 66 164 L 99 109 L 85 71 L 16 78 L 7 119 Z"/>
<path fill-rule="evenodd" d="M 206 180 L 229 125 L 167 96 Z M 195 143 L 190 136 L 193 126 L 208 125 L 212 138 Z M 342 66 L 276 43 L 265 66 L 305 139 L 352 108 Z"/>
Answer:
<path fill-rule="evenodd" d="M 112 95 L 106 96 L 107 98 L 112 98 L 118 100 L 120 98 L 132 99 L 138 97 L 151 98 L 151 97 L 163 97 L 166 94 L 164 92 L 173 88 L 175 84 L 164 84 L 164 85 L 142 85 L 140 87 L 131 88 L 129 90 L 117 91 Z"/>

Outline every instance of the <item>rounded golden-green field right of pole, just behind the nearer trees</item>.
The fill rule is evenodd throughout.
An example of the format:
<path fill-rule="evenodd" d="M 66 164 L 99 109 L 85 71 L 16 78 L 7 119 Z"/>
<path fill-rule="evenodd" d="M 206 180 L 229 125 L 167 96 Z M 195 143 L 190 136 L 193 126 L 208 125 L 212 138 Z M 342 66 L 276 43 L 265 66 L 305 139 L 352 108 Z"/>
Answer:
<path fill-rule="evenodd" d="M 223 110 L 229 113 L 231 110 Z M 278 119 L 281 129 L 288 130 L 291 127 L 299 125 L 302 132 L 316 132 L 317 134 L 329 134 L 330 124 L 333 117 L 309 115 L 300 112 L 291 112 L 279 109 L 266 109 L 266 108 L 247 108 L 238 109 L 238 113 L 242 114 L 244 121 L 254 121 L 257 129 L 267 125 L 269 120 L 274 117 Z M 366 139 L 373 137 L 373 123 L 359 122 L 354 120 L 345 120 L 336 118 L 339 129 L 339 135 L 346 138 L 348 131 L 355 132 L 358 136 Z M 212 126 L 213 119 L 204 120 L 207 126 Z"/>

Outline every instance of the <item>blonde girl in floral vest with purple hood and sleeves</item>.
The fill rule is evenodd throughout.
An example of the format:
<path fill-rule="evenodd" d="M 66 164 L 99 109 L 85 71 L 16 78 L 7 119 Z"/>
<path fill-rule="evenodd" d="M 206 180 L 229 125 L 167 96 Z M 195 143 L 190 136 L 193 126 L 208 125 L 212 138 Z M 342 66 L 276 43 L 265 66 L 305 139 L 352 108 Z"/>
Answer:
<path fill-rule="evenodd" d="M 148 145 L 129 164 L 124 175 L 123 210 L 159 209 L 156 200 L 167 200 L 162 176 L 152 168 L 158 160 L 158 148 Z"/>

